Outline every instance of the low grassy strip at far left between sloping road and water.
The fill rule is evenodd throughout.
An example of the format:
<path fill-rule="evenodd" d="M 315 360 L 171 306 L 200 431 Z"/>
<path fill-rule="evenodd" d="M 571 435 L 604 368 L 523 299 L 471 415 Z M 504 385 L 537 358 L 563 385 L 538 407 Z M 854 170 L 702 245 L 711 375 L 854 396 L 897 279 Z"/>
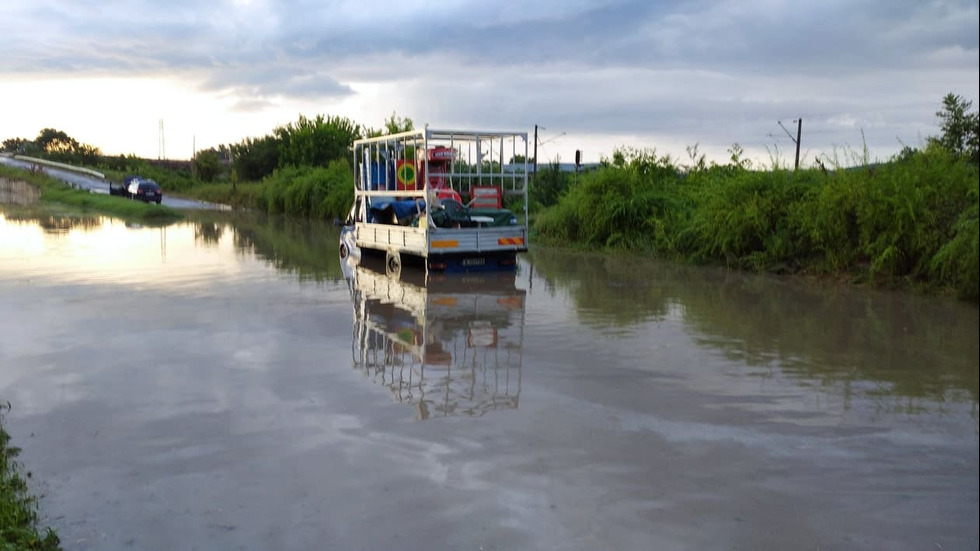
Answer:
<path fill-rule="evenodd" d="M 73 189 L 60 180 L 18 168 L 0 165 L 0 178 L 25 181 L 40 190 L 40 203 L 6 207 L 19 213 L 103 214 L 151 225 L 167 224 L 183 218 L 179 211 L 170 207 Z"/>

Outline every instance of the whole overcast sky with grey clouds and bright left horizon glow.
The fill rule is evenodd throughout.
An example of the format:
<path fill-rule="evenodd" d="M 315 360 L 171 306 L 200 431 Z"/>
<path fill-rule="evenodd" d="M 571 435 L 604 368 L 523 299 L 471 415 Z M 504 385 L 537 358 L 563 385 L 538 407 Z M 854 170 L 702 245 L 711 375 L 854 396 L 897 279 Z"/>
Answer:
<path fill-rule="evenodd" d="M 886 159 L 977 106 L 978 0 L 0 0 L 0 139 L 189 158 L 300 114 L 540 125 L 539 157 Z M 161 121 L 163 132 L 161 133 Z M 863 136 L 863 137 L 862 137 Z"/>

